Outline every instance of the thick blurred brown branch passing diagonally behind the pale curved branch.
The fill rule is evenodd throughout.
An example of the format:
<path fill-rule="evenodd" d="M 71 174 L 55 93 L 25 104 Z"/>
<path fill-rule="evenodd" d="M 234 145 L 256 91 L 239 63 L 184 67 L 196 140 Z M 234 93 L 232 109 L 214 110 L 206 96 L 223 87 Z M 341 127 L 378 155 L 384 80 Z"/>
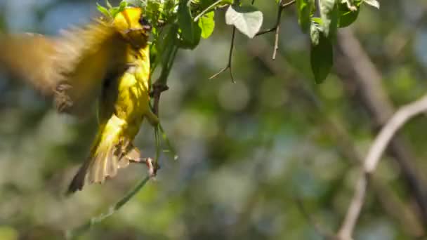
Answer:
<path fill-rule="evenodd" d="M 372 131 L 376 132 L 388 122 L 395 112 L 393 103 L 381 84 L 381 73 L 376 69 L 350 29 L 341 29 L 337 35 L 336 60 L 334 61 L 336 73 L 343 79 L 348 90 L 356 90 L 357 102 L 360 102 L 371 116 Z M 393 156 L 400 167 L 402 179 L 415 200 L 416 205 L 412 205 L 412 212 L 421 219 L 421 226 L 427 229 L 426 184 L 414 165 L 415 157 L 407 146 L 405 138 L 399 134 L 394 135 L 390 140 L 388 153 Z"/>

